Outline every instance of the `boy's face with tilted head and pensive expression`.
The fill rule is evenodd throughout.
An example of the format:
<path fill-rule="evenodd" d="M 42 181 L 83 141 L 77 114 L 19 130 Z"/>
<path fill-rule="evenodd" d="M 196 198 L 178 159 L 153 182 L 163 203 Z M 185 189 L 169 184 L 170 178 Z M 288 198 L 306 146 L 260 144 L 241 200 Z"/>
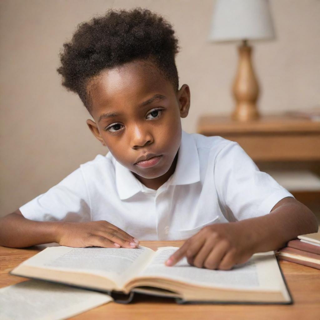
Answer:
<path fill-rule="evenodd" d="M 189 87 L 175 92 L 151 62 L 137 60 L 103 71 L 88 92 L 90 130 L 141 182 L 158 188 L 175 169 Z"/>

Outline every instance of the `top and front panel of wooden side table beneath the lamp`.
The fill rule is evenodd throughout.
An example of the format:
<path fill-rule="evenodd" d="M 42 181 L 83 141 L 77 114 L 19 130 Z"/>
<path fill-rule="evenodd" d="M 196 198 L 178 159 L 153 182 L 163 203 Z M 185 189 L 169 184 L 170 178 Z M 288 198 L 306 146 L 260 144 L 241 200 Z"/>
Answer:
<path fill-rule="evenodd" d="M 238 142 L 255 162 L 320 163 L 320 122 L 281 115 L 249 122 L 237 122 L 230 116 L 202 116 L 197 131 Z"/>

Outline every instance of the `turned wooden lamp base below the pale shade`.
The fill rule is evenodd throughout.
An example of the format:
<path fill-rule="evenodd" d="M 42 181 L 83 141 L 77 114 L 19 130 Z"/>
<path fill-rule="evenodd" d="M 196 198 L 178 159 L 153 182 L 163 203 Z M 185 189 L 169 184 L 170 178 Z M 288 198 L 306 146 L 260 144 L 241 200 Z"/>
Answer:
<path fill-rule="evenodd" d="M 239 64 L 233 95 L 236 100 L 236 108 L 231 117 L 236 121 L 251 121 L 260 117 L 256 101 L 259 95 L 259 86 L 251 63 L 252 48 L 244 40 L 238 47 Z"/>

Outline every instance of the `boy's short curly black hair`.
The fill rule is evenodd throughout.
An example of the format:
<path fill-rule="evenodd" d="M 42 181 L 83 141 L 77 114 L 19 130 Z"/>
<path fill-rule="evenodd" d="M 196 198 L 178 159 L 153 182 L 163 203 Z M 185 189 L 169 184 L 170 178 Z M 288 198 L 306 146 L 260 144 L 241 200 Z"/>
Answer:
<path fill-rule="evenodd" d="M 60 52 L 62 85 L 76 92 L 91 114 L 87 90 L 90 80 L 104 69 L 133 60 L 148 60 L 178 91 L 175 55 L 179 52 L 174 30 L 160 15 L 140 7 L 109 9 L 104 16 L 82 22 Z"/>

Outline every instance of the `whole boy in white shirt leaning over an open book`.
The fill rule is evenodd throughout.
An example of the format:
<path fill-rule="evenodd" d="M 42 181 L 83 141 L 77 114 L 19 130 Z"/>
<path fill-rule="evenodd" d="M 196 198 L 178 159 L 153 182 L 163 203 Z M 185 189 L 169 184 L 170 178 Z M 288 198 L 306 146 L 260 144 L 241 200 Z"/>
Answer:
<path fill-rule="evenodd" d="M 1 245 L 135 248 L 139 240 L 188 239 L 168 266 L 186 256 L 226 270 L 317 232 L 313 213 L 237 143 L 182 131 L 190 90 L 179 89 L 173 34 L 140 8 L 79 25 L 58 72 L 110 152 L 2 218 Z"/>

